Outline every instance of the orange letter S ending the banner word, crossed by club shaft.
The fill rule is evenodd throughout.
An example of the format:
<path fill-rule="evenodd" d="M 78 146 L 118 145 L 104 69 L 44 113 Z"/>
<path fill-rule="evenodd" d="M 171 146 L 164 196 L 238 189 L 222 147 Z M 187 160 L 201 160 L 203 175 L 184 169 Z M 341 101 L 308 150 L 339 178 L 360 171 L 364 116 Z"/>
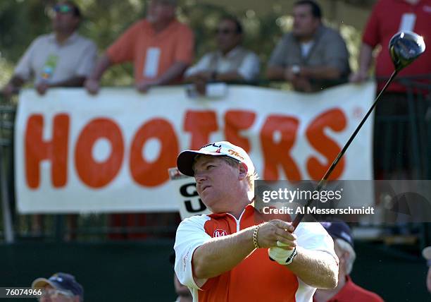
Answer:
<path fill-rule="evenodd" d="M 306 130 L 306 136 L 310 144 L 326 158 L 324 163 L 320 162 L 316 157 L 308 157 L 307 171 L 311 179 L 321 179 L 327 169 L 332 164 L 332 161 L 341 151 L 341 147 L 337 143 L 325 135 L 325 128 L 329 127 L 333 131 L 343 131 L 346 128 L 346 116 L 340 109 L 331 109 L 323 112 L 314 119 Z M 345 157 L 340 159 L 337 167 L 332 171 L 329 179 L 338 179 L 344 171 Z"/>

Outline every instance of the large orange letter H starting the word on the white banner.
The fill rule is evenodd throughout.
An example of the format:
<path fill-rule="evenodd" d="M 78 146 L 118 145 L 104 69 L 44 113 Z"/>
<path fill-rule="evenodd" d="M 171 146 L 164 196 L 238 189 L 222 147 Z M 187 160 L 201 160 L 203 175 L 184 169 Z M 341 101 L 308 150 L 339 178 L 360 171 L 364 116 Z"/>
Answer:
<path fill-rule="evenodd" d="M 54 187 L 65 186 L 68 175 L 69 115 L 54 116 L 51 140 L 42 139 L 44 117 L 33 114 L 25 127 L 25 179 L 32 189 L 39 187 L 40 163 L 51 162 L 51 181 Z"/>

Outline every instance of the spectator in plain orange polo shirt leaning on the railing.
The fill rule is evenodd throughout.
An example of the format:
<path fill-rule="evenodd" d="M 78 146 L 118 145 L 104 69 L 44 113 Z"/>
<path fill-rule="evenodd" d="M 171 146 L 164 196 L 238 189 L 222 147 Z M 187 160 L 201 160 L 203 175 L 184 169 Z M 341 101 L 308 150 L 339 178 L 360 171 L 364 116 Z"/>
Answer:
<path fill-rule="evenodd" d="M 175 18 L 176 0 L 151 0 L 147 16 L 130 26 L 108 48 L 85 82 L 91 94 L 99 92 L 104 71 L 113 64 L 132 61 L 140 92 L 151 86 L 179 83 L 192 62 L 194 35 Z"/>

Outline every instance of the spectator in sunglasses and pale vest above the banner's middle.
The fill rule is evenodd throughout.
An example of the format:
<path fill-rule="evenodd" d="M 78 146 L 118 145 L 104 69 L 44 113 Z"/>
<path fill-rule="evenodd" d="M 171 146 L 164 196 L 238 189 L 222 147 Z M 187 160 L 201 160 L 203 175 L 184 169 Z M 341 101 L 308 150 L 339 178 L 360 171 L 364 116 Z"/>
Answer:
<path fill-rule="evenodd" d="M 187 69 L 185 81 L 196 85 L 201 95 L 206 94 L 206 83 L 211 81 L 252 81 L 260 71 L 258 56 L 241 46 L 242 25 L 237 18 L 225 16 L 215 31 L 218 49 L 205 54 Z"/>

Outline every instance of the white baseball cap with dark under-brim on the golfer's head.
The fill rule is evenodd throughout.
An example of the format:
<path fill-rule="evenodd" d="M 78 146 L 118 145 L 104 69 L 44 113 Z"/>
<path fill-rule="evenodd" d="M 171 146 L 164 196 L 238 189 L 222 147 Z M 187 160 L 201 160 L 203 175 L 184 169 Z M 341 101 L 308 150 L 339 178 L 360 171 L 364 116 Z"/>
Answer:
<path fill-rule="evenodd" d="M 254 165 L 247 152 L 232 143 L 227 141 L 215 142 L 204 145 L 199 150 L 185 150 L 178 155 L 177 167 L 182 174 L 194 176 L 192 169 L 194 157 L 196 155 L 212 155 L 212 156 L 227 156 L 237 159 L 237 161 L 245 164 L 247 174 L 254 174 Z"/>

